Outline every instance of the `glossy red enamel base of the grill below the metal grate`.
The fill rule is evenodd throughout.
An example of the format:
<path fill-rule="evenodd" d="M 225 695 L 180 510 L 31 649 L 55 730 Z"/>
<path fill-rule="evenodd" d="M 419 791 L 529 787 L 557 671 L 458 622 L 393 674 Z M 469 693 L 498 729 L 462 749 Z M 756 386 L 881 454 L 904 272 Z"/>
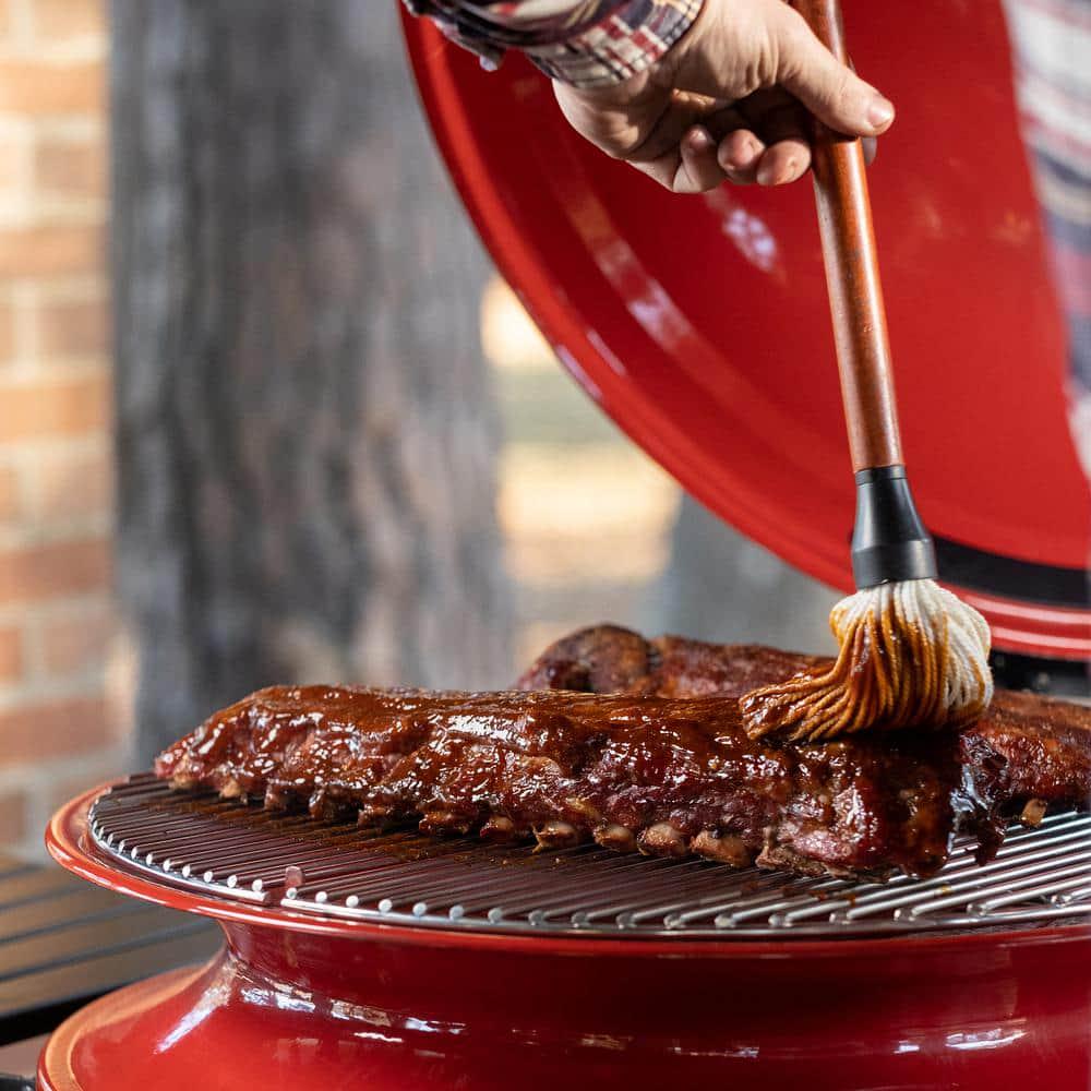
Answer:
<path fill-rule="evenodd" d="M 207 967 L 64 1023 L 43 1088 L 373 1091 L 1084 1089 L 1091 931 L 831 943 L 583 940 L 304 922 L 53 855 L 112 889 L 220 919 Z"/>

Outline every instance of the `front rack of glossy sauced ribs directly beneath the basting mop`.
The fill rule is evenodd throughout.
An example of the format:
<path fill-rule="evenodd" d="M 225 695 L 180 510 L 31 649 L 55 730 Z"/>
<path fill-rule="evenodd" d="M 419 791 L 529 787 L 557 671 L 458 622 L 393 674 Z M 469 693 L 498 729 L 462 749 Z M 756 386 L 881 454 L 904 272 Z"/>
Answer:
<path fill-rule="evenodd" d="M 717 858 L 923 874 L 946 858 L 960 771 L 954 738 L 923 745 L 758 745 L 721 696 L 285 687 L 213 717 L 157 771 L 315 815 L 488 825 L 494 839 L 619 827 L 682 854 L 707 832 L 700 846 Z"/>

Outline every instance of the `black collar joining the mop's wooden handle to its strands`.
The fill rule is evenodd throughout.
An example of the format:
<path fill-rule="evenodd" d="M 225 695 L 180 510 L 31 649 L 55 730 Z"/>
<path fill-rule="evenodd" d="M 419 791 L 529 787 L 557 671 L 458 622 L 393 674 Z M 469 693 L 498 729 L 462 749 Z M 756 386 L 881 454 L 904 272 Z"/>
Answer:
<path fill-rule="evenodd" d="M 916 513 L 904 466 L 856 473 L 852 575 L 860 590 L 902 579 L 936 578 L 936 550 Z"/>

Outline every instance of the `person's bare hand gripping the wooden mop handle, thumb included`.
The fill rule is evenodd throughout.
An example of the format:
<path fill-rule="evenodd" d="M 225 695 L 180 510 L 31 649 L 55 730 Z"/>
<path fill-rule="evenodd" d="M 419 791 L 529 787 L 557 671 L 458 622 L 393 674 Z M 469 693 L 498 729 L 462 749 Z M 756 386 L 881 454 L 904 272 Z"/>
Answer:
<path fill-rule="evenodd" d="M 807 116 L 874 137 L 894 106 L 837 61 L 783 0 L 705 0 L 647 71 L 610 87 L 554 83 L 573 128 L 675 193 L 726 179 L 781 185 L 811 166 Z"/>

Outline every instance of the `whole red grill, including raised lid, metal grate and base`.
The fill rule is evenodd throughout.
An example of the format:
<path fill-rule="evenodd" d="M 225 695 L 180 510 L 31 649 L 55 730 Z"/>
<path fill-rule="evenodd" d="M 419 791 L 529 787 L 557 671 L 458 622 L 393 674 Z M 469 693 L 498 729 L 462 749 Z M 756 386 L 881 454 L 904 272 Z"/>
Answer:
<path fill-rule="evenodd" d="M 846 8 L 856 64 L 901 110 L 873 197 L 945 580 L 988 618 L 998 666 L 1083 684 L 1091 504 L 999 8 L 922 0 L 896 37 L 882 4 Z M 848 588 L 806 187 L 671 197 L 573 136 L 521 61 L 488 76 L 423 22 L 406 33 L 464 200 L 562 361 L 709 507 Z M 935 879 L 854 884 L 361 831 L 136 777 L 62 808 L 50 851 L 215 918 L 226 945 L 70 1019 L 39 1081 L 1082 1091 L 1089 834 L 1054 815 L 985 868 L 960 844 Z"/>

